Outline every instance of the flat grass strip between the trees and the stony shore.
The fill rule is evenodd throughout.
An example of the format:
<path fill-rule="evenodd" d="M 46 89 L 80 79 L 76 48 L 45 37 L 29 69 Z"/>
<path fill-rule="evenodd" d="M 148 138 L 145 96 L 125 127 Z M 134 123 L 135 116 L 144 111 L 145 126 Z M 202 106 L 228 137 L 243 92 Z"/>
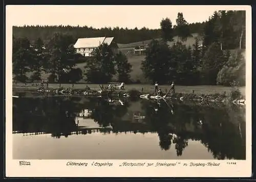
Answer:
<path fill-rule="evenodd" d="M 84 89 L 86 86 L 89 86 L 93 90 L 100 89 L 99 85 L 97 84 L 74 84 L 75 89 Z M 106 86 L 106 85 L 104 85 Z M 39 87 L 39 86 L 32 86 L 31 84 L 22 84 L 22 83 L 17 83 L 17 85 L 13 85 L 13 87 L 17 87 L 16 89 L 18 90 L 19 87 Z M 58 84 L 49 84 L 49 88 L 58 88 Z M 63 88 L 68 88 L 72 87 L 71 84 L 61 84 L 61 87 Z M 138 91 L 142 91 L 144 93 L 154 93 L 154 86 L 153 85 L 143 85 L 143 84 L 132 84 L 132 85 L 125 85 L 125 90 L 132 90 L 136 89 Z M 165 90 L 168 91 L 169 86 L 168 85 L 160 85 L 159 88 L 165 92 Z M 176 86 L 176 92 L 177 93 L 194 93 L 195 94 L 215 94 L 215 93 L 220 93 L 223 94 L 226 92 L 226 94 L 229 94 L 231 91 L 230 87 L 223 87 L 223 86 L 211 86 L 211 85 L 200 85 L 200 86 Z M 245 87 L 240 87 L 240 91 L 243 96 L 245 96 Z"/>

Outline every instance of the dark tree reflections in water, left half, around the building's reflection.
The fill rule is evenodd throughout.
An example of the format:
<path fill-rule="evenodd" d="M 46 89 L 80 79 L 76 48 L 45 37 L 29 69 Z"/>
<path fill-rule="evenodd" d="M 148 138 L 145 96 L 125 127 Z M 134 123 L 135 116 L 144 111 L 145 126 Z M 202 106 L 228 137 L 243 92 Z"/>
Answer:
<path fill-rule="evenodd" d="M 26 106 L 26 107 L 24 107 Z M 52 137 L 68 137 L 77 130 L 77 112 L 92 110 L 92 117 L 101 126 L 109 126 L 127 112 L 125 106 L 110 106 L 101 98 L 29 97 L 13 99 L 13 131 L 23 133 L 46 132 Z M 88 131 L 90 134 L 91 131 Z"/>

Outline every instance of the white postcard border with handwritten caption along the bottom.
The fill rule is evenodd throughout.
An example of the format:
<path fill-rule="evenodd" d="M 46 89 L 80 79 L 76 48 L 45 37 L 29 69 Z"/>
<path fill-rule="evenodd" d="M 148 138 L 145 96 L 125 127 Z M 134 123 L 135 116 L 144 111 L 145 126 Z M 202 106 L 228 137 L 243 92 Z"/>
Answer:
<path fill-rule="evenodd" d="M 250 6 L 215 6 L 216 10 L 246 10 L 246 160 L 24 160 L 30 165 L 19 165 L 12 159 L 12 26 L 15 8 L 6 7 L 6 176 L 7 177 L 250 177 L 251 176 L 251 61 L 252 18 Z M 34 6 L 34 5 L 33 5 Z M 41 5 L 40 5 L 41 6 Z M 69 6 L 65 6 L 67 9 Z M 178 6 L 191 8 L 191 6 Z M 197 8 L 207 8 L 202 6 Z M 211 6 L 212 8 L 212 6 Z M 26 12 L 24 12 L 26 13 Z M 26 106 L 25 106 L 26 107 Z M 69 161 L 88 163 L 69 166 Z M 113 166 L 92 166 L 93 162 L 113 163 Z M 143 167 L 122 166 L 123 162 L 145 163 Z M 147 163 L 180 163 L 172 167 L 146 167 Z M 183 166 L 184 163 L 220 163 L 219 166 Z M 236 165 L 234 164 L 236 163 Z"/>

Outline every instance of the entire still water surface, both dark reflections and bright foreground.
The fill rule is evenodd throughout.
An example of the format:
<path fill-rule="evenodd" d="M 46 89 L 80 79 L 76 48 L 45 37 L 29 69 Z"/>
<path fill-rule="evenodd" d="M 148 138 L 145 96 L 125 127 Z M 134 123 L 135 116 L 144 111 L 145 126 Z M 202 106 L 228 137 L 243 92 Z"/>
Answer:
<path fill-rule="evenodd" d="M 245 160 L 245 146 L 242 106 L 13 98 L 13 159 Z"/>

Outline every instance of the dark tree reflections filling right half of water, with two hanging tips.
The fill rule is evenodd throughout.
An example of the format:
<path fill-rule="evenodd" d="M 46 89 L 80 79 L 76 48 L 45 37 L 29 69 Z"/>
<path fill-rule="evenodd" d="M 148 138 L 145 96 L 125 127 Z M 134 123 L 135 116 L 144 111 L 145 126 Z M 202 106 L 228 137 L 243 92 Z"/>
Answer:
<path fill-rule="evenodd" d="M 176 103 L 171 114 L 162 103 L 143 100 L 142 105 L 147 124 L 158 132 L 161 148 L 169 148 L 170 133 L 175 133 L 177 155 L 192 139 L 201 140 L 216 159 L 245 159 L 245 111 L 241 108 Z"/>

